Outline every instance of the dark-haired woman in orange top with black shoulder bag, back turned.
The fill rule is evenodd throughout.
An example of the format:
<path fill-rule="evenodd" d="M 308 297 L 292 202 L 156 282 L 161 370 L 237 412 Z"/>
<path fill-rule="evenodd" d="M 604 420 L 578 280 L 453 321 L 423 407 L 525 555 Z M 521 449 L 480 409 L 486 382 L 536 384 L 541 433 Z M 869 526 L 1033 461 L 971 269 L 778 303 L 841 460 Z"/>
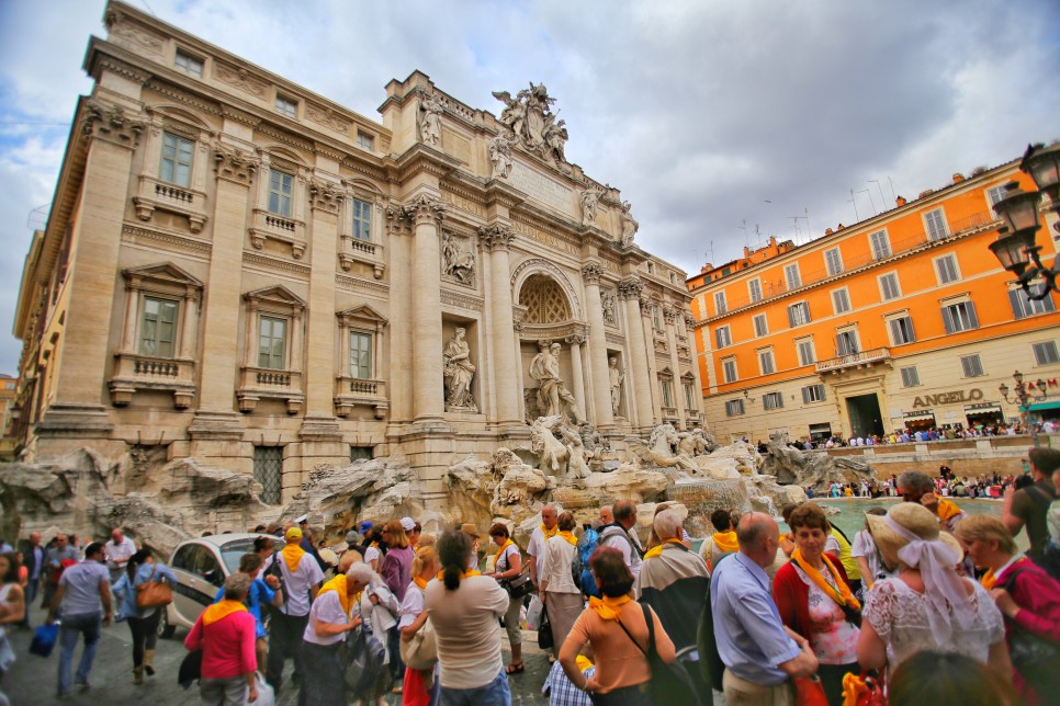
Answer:
<path fill-rule="evenodd" d="M 594 551 L 589 568 L 604 597 L 590 599 L 589 607 L 574 622 L 560 648 L 560 664 L 571 683 L 593 697 L 594 705 L 651 706 L 654 703 L 649 691 L 652 669 L 641 651 L 647 646 L 647 623 L 641 604 L 630 595 L 633 574 L 622 553 L 613 547 Z M 674 642 L 655 612 L 649 608 L 649 615 L 654 622 L 655 649 L 668 664 L 677 659 Z M 577 663 L 578 653 L 586 645 L 593 648 L 596 663 L 596 674 L 588 679 Z"/>

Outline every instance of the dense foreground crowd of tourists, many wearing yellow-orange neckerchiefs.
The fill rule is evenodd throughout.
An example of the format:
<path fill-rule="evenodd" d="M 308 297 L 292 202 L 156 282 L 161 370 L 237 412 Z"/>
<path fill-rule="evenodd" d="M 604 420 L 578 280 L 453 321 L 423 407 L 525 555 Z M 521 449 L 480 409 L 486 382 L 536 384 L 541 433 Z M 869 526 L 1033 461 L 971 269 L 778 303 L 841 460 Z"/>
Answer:
<path fill-rule="evenodd" d="M 580 526 L 544 505 L 526 547 L 504 522 L 436 535 L 402 517 L 361 522 L 322 548 L 300 517 L 258 528 L 184 639 L 180 679 L 199 681 L 203 704 L 268 703 L 283 688 L 307 706 L 388 694 L 510 704 L 530 630 L 553 662 L 551 704 L 709 704 L 712 690 L 732 705 L 1049 703 L 1060 693 L 1060 451 L 1028 459 L 1030 485 L 1006 490 L 1000 519 L 967 515 L 936 479 L 909 471 L 895 482 L 903 502 L 867 513 L 853 540 L 812 500 L 783 509 L 783 532 L 767 514 L 719 509 L 696 550 L 670 503 L 642 543 L 631 500 L 583 513 Z M 29 626 L 49 585 L 60 696 L 89 688 L 112 618 L 129 628 L 133 683 L 155 674 L 165 607 L 138 597 L 177 580 L 150 547 L 121 530 L 83 551 L 33 534 L 0 553 L 0 679 L 13 659 L 3 630 Z"/>

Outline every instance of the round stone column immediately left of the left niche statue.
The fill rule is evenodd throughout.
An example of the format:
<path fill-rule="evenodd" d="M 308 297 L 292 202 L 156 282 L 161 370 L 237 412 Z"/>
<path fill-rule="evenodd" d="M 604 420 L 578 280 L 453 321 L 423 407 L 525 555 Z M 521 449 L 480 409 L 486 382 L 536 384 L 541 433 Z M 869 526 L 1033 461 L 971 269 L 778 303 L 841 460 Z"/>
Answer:
<path fill-rule="evenodd" d="M 441 274 L 438 229 L 446 206 L 420 194 L 410 204 L 413 236 L 413 410 L 416 421 L 441 419 L 446 407 L 441 371 Z"/>

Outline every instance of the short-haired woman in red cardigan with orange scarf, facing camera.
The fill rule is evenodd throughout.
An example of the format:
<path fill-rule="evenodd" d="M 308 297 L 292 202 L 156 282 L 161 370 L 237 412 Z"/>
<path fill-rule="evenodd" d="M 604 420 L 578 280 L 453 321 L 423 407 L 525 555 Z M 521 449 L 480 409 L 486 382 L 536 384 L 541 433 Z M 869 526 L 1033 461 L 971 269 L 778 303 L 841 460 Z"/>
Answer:
<path fill-rule="evenodd" d="M 791 561 L 777 571 L 773 599 L 783 624 L 810 640 L 828 703 L 843 703 L 843 675 L 857 672 L 861 604 L 854 597 L 838 557 L 824 553 L 828 520 L 812 502 L 792 511 Z"/>

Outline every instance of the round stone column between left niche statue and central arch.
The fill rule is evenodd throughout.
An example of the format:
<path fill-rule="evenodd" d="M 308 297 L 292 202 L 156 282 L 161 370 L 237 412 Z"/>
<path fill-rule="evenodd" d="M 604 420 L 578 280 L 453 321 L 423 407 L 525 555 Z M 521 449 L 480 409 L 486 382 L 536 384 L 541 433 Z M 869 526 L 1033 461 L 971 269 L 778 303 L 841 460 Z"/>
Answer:
<path fill-rule="evenodd" d="M 511 329 L 511 283 L 508 248 L 511 230 L 504 225 L 478 229 L 478 238 L 489 251 L 489 360 L 493 363 L 492 379 L 495 380 L 493 397 L 496 400 L 498 425 L 519 424 L 519 389 L 515 384 L 519 376 L 519 357 L 511 355 L 516 337 Z M 516 339 L 518 345 L 518 340 Z"/>

